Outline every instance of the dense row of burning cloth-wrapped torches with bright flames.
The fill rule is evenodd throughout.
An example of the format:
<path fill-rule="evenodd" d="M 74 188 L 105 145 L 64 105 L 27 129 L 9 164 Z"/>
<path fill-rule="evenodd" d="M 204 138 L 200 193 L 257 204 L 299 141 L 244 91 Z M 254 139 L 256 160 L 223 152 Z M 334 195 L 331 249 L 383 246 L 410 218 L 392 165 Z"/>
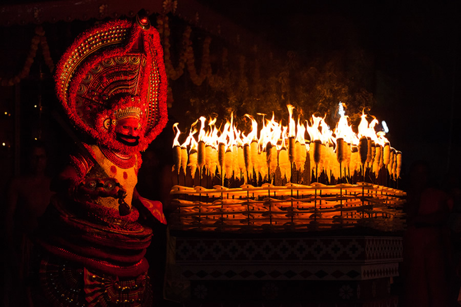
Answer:
<path fill-rule="evenodd" d="M 273 117 L 262 121 L 261 127 L 250 115 L 245 115 L 252 123 L 252 130 L 245 134 L 239 130 L 234 117 L 226 120 L 222 127 L 216 125 L 217 118 L 200 117 L 191 126 L 186 140 L 180 144 L 181 131 L 178 123 L 173 128 L 176 137 L 173 142 L 175 165 L 173 171 L 178 176 L 190 169 L 194 179 L 196 172 L 202 176 L 240 179 L 244 183 L 258 178 L 271 182 L 277 167 L 282 179 L 292 181 L 292 170 L 304 172 L 309 167 L 318 181 L 324 172 L 328 182 L 337 182 L 358 174 L 364 180 L 365 171 L 379 176 L 381 169 L 388 171 L 392 180 L 400 178 L 402 152 L 390 146 L 384 131 L 376 132 L 379 123 L 374 117 L 368 122 L 362 113 L 358 132 L 355 133 L 348 117 L 341 115 L 336 128 L 330 130 L 324 118 L 312 115 L 310 120 L 296 123 L 293 119 L 294 106 L 288 105 L 288 126 L 283 126 Z M 200 123 L 200 127 L 197 126 Z M 222 126 L 222 125 L 221 125 Z M 306 140 L 306 132 L 309 139 Z M 197 135 L 198 133 L 198 135 Z M 309 176 L 310 177 L 310 176 Z M 299 182 L 298 182 L 299 183 Z M 304 182 L 310 184 L 310 182 Z"/>

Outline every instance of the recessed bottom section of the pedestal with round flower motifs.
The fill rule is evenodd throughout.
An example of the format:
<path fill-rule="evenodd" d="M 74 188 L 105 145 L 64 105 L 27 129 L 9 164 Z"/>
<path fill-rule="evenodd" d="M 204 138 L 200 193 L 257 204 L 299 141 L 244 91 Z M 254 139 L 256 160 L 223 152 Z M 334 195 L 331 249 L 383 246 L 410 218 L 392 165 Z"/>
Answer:
<path fill-rule="evenodd" d="M 390 281 L 389 278 L 331 282 L 193 281 L 189 286 L 191 296 L 185 301 L 200 301 L 204 305 L 220 301 L 229 306 L 247 301 L 255 306 L 261 305 L 258 302 L 263 302 L 264 306 L 309 306 L 308 303 L 316 303 L 315 306 L 379 306 L 380 302 L 396 299 L 391 294 Z"/>

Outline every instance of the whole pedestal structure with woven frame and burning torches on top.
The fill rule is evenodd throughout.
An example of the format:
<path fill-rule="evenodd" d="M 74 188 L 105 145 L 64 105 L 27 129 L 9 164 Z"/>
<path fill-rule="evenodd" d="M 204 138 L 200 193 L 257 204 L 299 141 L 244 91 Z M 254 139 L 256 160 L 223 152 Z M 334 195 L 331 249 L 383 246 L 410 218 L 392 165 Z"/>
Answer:
<path fill-rule="evenodd" d="M 355 133 L 343 114 L 331 131 L 316 116 L 296 124 L 287 107 L 287 126 L 273 116 L 259 129 L 245 115 L 246 133 L 232 115 L 220 128 L 201 117 L 182 144 L 175 124 L 166 296 L 191 306 L 396 305 L 402 153 L 375 118 L 362 114 Z"/>

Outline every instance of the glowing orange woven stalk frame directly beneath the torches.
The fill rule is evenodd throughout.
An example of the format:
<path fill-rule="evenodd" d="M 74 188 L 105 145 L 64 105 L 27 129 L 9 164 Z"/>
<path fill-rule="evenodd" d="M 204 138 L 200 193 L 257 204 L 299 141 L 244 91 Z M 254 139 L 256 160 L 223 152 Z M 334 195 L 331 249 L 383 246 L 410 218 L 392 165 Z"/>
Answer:
<path fill-rule="evenodd" d="M 176 230 L 286 232 L 355 226 L 403 229 L 401 190 L 360 182 L 327 186 L 291 184 L 240 188 L 174 186 Z"/>

